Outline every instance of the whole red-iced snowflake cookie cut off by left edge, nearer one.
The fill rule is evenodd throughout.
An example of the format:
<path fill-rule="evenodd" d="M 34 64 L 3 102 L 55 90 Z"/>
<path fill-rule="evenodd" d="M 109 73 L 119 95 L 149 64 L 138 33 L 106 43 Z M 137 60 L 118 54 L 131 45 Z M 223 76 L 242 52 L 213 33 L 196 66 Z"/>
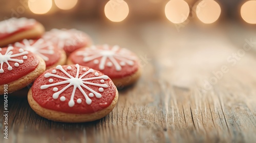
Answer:
<path fill-rule="evenodd" d="M 0 49 L 0 94 L 8 86 L 8 94 L 26 87 L 46 69 L 45 61 L 18 47 Z"/>

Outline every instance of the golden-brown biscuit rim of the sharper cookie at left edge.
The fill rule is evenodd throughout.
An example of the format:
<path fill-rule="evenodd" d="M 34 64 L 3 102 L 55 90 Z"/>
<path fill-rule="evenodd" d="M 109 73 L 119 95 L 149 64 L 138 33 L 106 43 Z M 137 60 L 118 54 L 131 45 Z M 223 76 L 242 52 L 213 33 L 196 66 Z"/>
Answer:
<path fill-rule="evenodd" d="M 41 57 L 37 56 L 37 58 L 39 59 L 39 63 L 34 71 L 31 71 L 31 73 L 29 73 L 26 76 L 23 76 L 22 78 L 19 78 L 16 81 L 7 83 L 8 84 L 8 94 L 28 86 L 40 74 L 44 73 L 44 71 L 46 70 L 46 63 Z M 0 95 L 2 95 L 2 94 L 4 94 L 4 85 L 0 85 Z"/>

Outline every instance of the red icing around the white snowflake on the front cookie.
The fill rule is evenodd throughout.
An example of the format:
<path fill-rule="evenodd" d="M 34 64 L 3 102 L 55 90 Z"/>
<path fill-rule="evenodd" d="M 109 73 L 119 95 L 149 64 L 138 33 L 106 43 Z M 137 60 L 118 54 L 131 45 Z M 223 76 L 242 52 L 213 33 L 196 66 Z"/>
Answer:
<path fill-rule="evenodd" d="M 65 69 L 71 76 L 75 77 L 76 76 L 76 67 L 75 65 L 69 65 L 72 67 L 71 70 L 68 70 L 67 67 L 68 65 L 62 66 L 63 69 Z M 86 73 L 86 71 L 83 71 L 82 68 L 86 68 L 87 71 L 90 69 L 89 67 L 85 67 L 85 66 L 80 66 L 80 70 L 79 70 L 79 77 Z M 75 101 L 75 105 L 73 107 L 69 107 L 68 103 L 70 101 L 71 98 L 71 94 L 73 91 L 73 87 L 74 86 L 70 86 L 69 88 L 67 88 L 65 91 L 63 91 L 62 93 L 60 93 L 58 99 L 53 99 L 53 93 L 55 93 L 55 91 L 53 91 L 54 87 L 58 88 L 58 91 L 61 90 L 62 88 L 64 88 L 65 86 L 67 86 L 68 84 L 62 84 L 62 85 L 57 85 L 57 86 L 52 86 L 46 89 L 40 89 L 40 87 L 42 85 L 47 85 L 47 84 L 53 84 L 53 83 L 58 83 L 60 81 L 65 81 L 63 79 L 59 79 L 59 78 L 55 78 L 55 77 L 49 77 L 49 78 L 45 78 L 45 74 L 46 73 L 52 73 L 52 70 L 56 69 L 56 68 L 51 68 L 45 71 L 44 74 L 40 75 L 34 82 L 33 86 L 32 86 L 32 95 L 33 95 L 33 99 L 43 108 L 47 108 L 47 109 L 51 109 L 51 110 L 55 110 L 55 111 L 60 111 L 60 112 L 65 112 L 65 113 L 75 113 L 75 114 L 88 114 L 88 113 L 94 113 L 97 111 L 100 111 L 108 106 L 110 106 L 110 104 L 112 103 L 112 101 L 115 98 L 116 95 L 116 87 L 114 85 L 114 83 L 108 79 L 105 80 L 104 83 L 101 83 L 100 80 L 101 79 L 96 79 L 96 80 L 90 80 L 89 82 L 93 82 L 93 83 L 98 83 L 98 84 L 107 84 L 108 87 L 103 88 L 104 91 L 103 92 L 99 92 L 98 90 L 98 86 L 93 86 L 93 85 L 87 85 L 88 87 L 90 87 L 91 89 L 99 92 L 102 94 L 101 98 L 96 98 L 94 97 L 89 97 L 92 100 L 92 103 L 90 105 L 88 105 L 86 103 L 86 99 L 84 98 L 83 94 L 81 93 L 81 91 L 77 88 L 76 92 L 75 92 L 75 97 L 74 97 L 74 101 Z M 65 74 L 62 73 L 62 71 L 56 69 L 57 73 L 55 75 L 59 75 L 62 77 L 68 77 Z M 94 70 L 94 73 L 96 72 L 96 70 Z M 99 71 L 97 71 L 99 73 L 99 76 L 102 76 L 103 74 L 100 73 Z M 86 75 L 84 78 L 90 78 L 90 77 L 95 77 L 94 73 L 90 73 L 88 75 Z M 84 79 L 82 78 L 82 79 Z M 50 83 L 49 79 L 53 79 L 53 82 Z M 87 95 L 89 95 L 89 93 L 91 91 L 87 90 L 86 88 L 83 88 L 84 92 L 87 93 Z M 64 96 L 66 97 L 66 101 L 60 101 L 60 97 Z M 80 104 L 76 103 L 77 99 L 81 99 L 82 102 Z"/>

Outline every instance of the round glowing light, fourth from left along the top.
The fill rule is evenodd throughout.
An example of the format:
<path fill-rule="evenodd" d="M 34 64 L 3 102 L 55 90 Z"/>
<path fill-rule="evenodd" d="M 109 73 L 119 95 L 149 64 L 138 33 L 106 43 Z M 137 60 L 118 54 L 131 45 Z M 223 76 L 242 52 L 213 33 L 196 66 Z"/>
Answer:
<path fill-rule="evenodd" d="M 183 0 L 171 0 L 165 6 L 165 15 L 173 23 L 182 23 L 189 15 L 189 6 Z"/>

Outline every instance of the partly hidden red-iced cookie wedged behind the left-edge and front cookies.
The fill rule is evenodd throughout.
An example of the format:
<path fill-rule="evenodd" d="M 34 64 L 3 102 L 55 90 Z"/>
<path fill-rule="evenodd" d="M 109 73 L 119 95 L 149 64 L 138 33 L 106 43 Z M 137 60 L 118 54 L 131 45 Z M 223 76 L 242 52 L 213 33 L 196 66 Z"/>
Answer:
<path fill-rule="evenodd" d="M 59 49 L 56 45 L 44 39 L 27 40 L 16 42 L 14 46 L 30 51 L 46 62 L 46 68 L 66 64 L 67 56 L 65 51 Z"/>

